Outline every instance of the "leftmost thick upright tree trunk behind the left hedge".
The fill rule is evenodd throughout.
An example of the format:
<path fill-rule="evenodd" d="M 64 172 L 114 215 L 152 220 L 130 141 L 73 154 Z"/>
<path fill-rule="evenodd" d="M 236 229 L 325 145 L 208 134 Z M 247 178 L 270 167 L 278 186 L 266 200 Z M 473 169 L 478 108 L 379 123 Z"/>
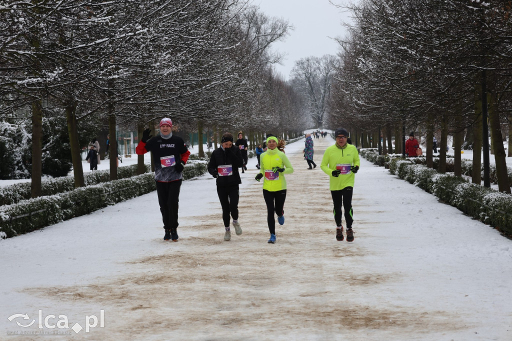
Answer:
<path fill-rule="evenodd" d="M 81 165 L 80 165 L 81 166 Z M 32 183 L 31 198 L 41 196 L 42 176 L 42 103 L 41 100 L 32 102 Z"/>

